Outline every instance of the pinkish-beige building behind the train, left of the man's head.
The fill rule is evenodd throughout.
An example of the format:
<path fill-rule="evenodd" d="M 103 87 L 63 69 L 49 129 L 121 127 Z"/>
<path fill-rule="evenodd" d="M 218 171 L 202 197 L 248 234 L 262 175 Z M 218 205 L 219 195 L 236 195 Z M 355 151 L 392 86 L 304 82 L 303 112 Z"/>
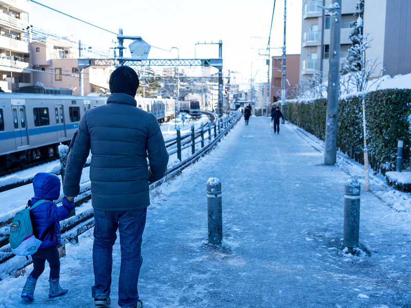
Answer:
<path fill-rule="evenodd" d="M 92 55 L 90 57 L 93 57 Z M 78 69 L 79 44 L 63 38 L 33 36 L 31 44 L 33 84 L 71 89 L 80 95 Z M 108 91 L 113 67 L 96 66 L 83 69 L 83 94 Z"/>

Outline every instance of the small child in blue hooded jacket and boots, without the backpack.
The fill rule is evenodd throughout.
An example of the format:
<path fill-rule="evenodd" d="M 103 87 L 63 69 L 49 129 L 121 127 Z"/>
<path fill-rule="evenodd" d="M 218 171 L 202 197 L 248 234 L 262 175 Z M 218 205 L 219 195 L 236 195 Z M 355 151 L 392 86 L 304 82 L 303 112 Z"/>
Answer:
<path fill-rule="evenodd" d="M 27 278 L 23 287 L 22 298 L 27 301 L 34 300 L 34 288 L 40 275 L 44 271 L 44 264 L 50 265 L 50 289 L 49 297 L 57 297 L 67 293 L 67 288 L 61 287 L 60 278 L 60 256 L 57 246 L 61 244 L 60 223 L 70 215 L 74 204 L 66 198 L 62 206 L 57 206 L 53 200 L 60 197 L 60 179 L 53 174 L 38 173 L 33 178 L 34 197 L 31 204 L 39 200 L 49 200 L 41 203 L 30 211 L 33 231 L 36 238 L 40 239 L 47 233 L 38 251 L 31 255 L 33 260 L 33 271 Z"/>

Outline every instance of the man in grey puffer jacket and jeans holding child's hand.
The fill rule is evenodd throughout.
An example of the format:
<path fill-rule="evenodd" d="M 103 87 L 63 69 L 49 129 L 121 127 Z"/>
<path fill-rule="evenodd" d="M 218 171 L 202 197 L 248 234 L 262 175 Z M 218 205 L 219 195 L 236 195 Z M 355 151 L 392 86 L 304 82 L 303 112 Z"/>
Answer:
<path fill-rule="evenodd" d="M 84 113 L 67 158 L 63 189 L 70 200 L 79 194 L 81 171 L 91 149 L 91 203 L 96 221 L 95 285 L 91 291 L 96 306 L 110 304 L 113 245 L 119 229 L 118 304 L 142 307 L 137 283 L 146 208 L 150 205 L 148 182 L 164 176 L 169 155 L 157 119 L 136 108 L 138 85 L 138 76 L 130 67 L 121 66 L 111 74 L 107 104 Z"/>

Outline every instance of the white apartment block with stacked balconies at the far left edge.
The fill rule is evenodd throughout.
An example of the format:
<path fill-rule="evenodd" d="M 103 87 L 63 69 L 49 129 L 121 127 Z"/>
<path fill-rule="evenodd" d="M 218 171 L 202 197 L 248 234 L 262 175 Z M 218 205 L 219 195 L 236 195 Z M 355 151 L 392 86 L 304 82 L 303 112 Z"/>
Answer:
<path fill-rule="evenodd" d="M 31 85 L 28 0 L 0 1 L 0 87 Z"/>

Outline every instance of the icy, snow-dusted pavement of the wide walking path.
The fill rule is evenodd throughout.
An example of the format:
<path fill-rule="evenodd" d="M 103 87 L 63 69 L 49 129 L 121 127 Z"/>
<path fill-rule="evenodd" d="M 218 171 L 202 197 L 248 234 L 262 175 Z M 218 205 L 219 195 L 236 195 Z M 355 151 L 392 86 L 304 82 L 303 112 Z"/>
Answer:
<path fill-rule="evenodd" d="M 244 120 L 218 147 L 152 191 L 143 236 L 139 293 L 160 307 L 410 307 L 409 213 L 362 191 L 359 256 L 342 251 L 341 166 L 291 124 L 280 134 L 268 118 Z M 222 184 L 221 247 L 207 244 L 207 180 Z M 31 307 L 90 307 L 92 233 L 66 245 L 61 281 L 67 295 L 48 299 L 48 269 Z M 120 264 L 114 247 L 111 307 Z M 31 268 L 28 268 L 30 271 Z M 20 300 L 27 277 L 0 281 L 0 307 Z"/>

